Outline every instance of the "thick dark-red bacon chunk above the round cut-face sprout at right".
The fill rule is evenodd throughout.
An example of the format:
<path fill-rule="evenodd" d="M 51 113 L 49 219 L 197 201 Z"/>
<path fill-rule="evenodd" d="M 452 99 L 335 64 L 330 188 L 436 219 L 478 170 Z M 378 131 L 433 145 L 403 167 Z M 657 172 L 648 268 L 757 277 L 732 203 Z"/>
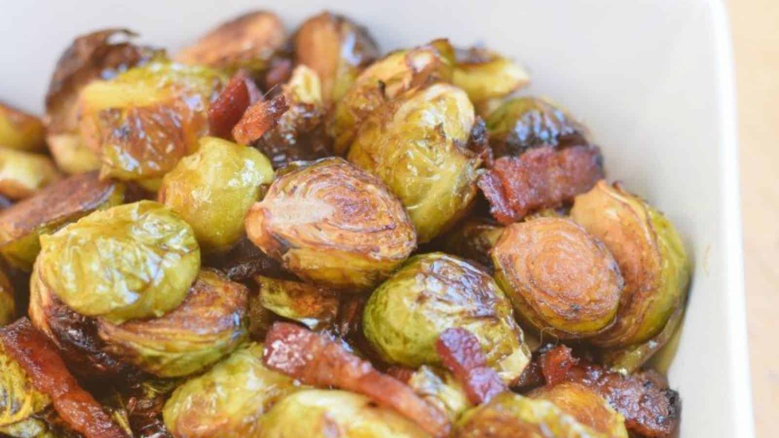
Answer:
<path fill-rule="evenodd" d="M 541 208 L 559 207 L 587 192 L 604 177 L 603 157 L 594 146 L 565 149 L 539 147 L 519 157 L 500 157 L 478 186 L 490 203 L 490 213 L 512 224 Z"/>

